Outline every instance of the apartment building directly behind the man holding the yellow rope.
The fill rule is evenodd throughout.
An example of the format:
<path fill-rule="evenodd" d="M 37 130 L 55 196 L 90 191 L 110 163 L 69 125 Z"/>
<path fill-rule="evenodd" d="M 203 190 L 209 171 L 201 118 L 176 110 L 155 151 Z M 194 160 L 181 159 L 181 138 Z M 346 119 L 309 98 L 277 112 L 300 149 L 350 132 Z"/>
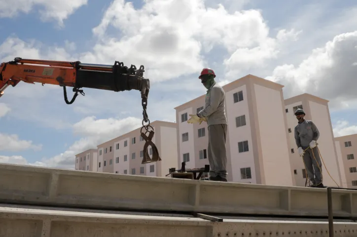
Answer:
<path fill-rule="evenodd" d="M 302 158 L 297 152 L 297 147 L 294 138 L 294 128 L 297 124 L 297 119 L 294 115 L 295 111 L 300 108 L 305 111 L 305 119 L 312 120 L 320 131 L 318 146 L 323 158 L 324 164 L 331 177 L 341 187 L 342 170 L 338 161 L 337 150 L 334 143 L 333 130 L 328 109 L 328 100 L 311 94 L 301 94 L 285 100 L 285 113 L 287 120 L 287 132 L 289 136 L 289 156 L 290 164 L 293 170 L 295 184 L 297 186 L 305 186 L 306 173 Z M 337 187 L 336 183 L 329 177 L 322 163 L 323 184 L 330 187 Z"/>

